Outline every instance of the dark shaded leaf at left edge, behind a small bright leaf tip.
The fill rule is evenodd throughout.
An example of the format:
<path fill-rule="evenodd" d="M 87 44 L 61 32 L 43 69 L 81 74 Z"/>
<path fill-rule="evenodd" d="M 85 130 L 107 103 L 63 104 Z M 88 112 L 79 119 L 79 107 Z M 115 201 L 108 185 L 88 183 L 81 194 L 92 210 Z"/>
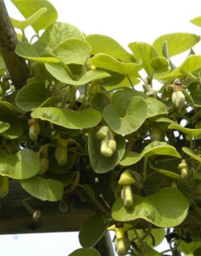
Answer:
<path fill-rule="evenodd" d="M 8 139 L 16 139 L 20 137 L 23 133 L 22 123 L 20 119 L 12 114 L 2 114 L 0 115 L 0 121 L 9 123 L 10 128 L 7 129 L 2 135 Z"/>

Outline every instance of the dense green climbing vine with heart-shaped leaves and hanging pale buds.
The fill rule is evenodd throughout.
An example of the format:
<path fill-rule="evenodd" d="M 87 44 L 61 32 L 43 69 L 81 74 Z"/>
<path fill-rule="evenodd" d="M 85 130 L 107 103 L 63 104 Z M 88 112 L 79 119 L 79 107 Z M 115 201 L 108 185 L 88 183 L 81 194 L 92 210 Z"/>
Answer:
<path fill-rule="evenodd" d="M 108 226 L 118 255 L 165 256 L 154 249 L 164 237 L 172 255 L 198 255 L 199 229 L 181 224 L 188 215 L 201 223 L 200 37 L 168 34 L 127 51 L 56 22 L 47 0 L 12 2 L 25 18 L 11 22 L 30 77 L 16 90 L 0 57 L 0 197 L 14 179 L 62 212 L 75 200 L 93 204 L 72 256 L 98 256 L 91 247 Z M 182 52 L 177 67 L 171 57 Z"/>

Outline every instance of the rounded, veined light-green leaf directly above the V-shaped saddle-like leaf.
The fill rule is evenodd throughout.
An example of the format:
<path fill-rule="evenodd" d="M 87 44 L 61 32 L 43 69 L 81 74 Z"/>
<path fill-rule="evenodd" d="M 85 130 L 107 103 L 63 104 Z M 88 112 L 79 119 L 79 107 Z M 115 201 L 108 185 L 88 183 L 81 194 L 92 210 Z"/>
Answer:
<path fill-rule="evenodd" d="M 90 54 L 91 46 L 84 40 L 68 38 L 56 46 L 53 53 L 65 64 L 84 65 L 85 58 Z"/>

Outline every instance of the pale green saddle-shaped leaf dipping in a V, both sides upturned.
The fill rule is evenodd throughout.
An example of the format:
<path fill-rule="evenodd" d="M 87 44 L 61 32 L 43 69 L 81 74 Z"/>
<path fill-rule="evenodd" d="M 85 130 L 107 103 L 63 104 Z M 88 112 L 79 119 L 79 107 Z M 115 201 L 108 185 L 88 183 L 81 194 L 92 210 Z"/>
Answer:
<path fill-rule="evenodd" d="M 110 76 L 101 70 L 90 70 L 84 73 L 79 80 L 72 80 L 68 72 L 59 63 L 45 63 L 45 67 L 58 81 L 68 85 L 85 85 L 93 80 Z"/>

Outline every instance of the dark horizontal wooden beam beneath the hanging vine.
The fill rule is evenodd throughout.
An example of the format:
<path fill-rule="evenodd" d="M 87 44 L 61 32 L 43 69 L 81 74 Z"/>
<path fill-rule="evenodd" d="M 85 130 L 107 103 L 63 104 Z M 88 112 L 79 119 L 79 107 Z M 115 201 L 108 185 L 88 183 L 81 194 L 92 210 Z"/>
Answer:
<path fill-rule="evenodd" d="M 104 190 L 104 187 L 103 187 Z M 105 184 L 105 198 L 107 199 L 108 185 Z M 1 199 L 0 234 L 40 233 L 40 232 L 70 232 L 78 231 L 81 224 L 94 214 L 89 204 L 75 202 L 75 209 L 68 209 L 66 213 L 59 210 L 58 202 L 42 202 L 32 199 L 29 204 L 34 209 L 41 210 L 41 218 L 34 222 L 32 215 L 22 205 L 22 199 L 29 196 L 19 182 L 10 182 L 9 194 Z M 110 201 L 111 195 L 108 194 Z M 201 223 L 201 221 L 200 221 Z M 200 227 L 192 217 L 188 217 L 182 227 Z M 142 228 L 141 221 L 137 228 Z"/>

